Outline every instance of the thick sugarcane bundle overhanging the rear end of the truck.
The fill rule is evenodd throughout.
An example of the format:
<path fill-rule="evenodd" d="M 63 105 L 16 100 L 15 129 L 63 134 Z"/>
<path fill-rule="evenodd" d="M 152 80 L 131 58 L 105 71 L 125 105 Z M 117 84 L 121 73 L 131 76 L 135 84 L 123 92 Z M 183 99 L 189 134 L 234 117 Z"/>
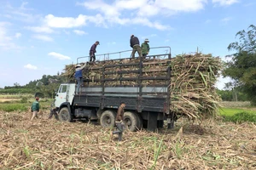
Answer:
<path fill-rule="evenodd" d="M 214 84 L 221 60 L 212 54 L 179 55 L 171 66 L 170 110 L 189 118 L 215 116 L 220 98 Z"/>

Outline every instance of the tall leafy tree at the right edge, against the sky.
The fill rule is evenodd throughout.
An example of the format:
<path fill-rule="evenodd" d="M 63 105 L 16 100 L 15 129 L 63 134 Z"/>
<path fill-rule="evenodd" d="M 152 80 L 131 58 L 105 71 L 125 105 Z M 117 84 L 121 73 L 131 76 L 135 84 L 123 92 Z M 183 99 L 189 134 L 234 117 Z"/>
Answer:
<path fill-rule="evenodd" d="M 238 42 L 230 43 L 228 49 L 235 54 L 225 65 L 224 77 L 231 77 L 234 88 L 240 88 L 247 94 L 251 105 L 256 105 L 256 26 L 249 26 L 247 31 L 238 31 Z"/>

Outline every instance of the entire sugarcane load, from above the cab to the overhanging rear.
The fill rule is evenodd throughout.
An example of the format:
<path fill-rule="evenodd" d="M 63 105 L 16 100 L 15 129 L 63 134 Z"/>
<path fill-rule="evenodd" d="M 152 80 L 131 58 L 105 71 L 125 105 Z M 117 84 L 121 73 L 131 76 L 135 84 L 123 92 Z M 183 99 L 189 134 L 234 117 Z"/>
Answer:
<path fill-rule="evenodd" d="M 135 63 L 137 65 L 118 66 L 119 64 Z M 117 65 L 106 67 L 103 66 Z M 212 54 L 184 54 L 170 59 L 144 59 L 142 77 L 166 77 L 167 68 L 171 66 L 171 111 L 177 115 L 186 115 L 189 118 L 214 116 L 218 109 L 218 94 L 214 84 L 217 81 L 218 71 L 221 69 L 221 60 L 212 57 Z M 88 86 L 102 84 L 104 78 L 114 79 L 106 81 L 105 86 L 137 85 L 137 80 L 119 81 L 124 77 L 138 77 L 138 73 L 122 73 L 119 71 L 137 71 L 139 59 L 117 59 L 97 62 L 94 65 L 86 64 L 83 70 L 84 79 L 90 80 Z M 63 76 L 68 81 L 74 81 L 75 65 L 66 65 Z M 105 74 L 105 73 L 111 74 Z M 147 79 L 147 78 L 146 78 Z M 164 80 L 143 80 L 143 86 L 167 85 Z"/>

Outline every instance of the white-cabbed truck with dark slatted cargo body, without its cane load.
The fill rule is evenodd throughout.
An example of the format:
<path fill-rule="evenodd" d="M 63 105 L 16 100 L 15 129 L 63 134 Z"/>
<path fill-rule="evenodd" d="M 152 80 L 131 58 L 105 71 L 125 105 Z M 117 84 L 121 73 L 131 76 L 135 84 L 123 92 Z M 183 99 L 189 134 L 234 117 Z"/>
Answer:
<path fill-rule="evenodd" d="M 96 120 L 102 127 L 114 127 L 115 117 L 120 102 L 125 102 L 124 122 L 130 131 L 147 128 L 155 131 L 164 126 L 173 127 L 175 116 L 170 111 L 170 84 L 171 84 L 171 48 L 165 54 L 154 54 L 139 57 L 133 62 L 130 58 L 106 59 L 100 63 L 108 65 L 98 66 L 101 77 L 86 78 L 80 93 L 75 94 L 75 82 L 61 83 L 55 94 L 55 111 L 61 122 L 75 122 L 76 120 Z M 113 53 L 122 54 L 127 51 Z M 99 56 L 99 55 L 98 55 Z M 97 56 L 96 56 L 97 57 Z M 83 59 L 80 57 L 77 59 Z M 123 61 L 128 62 L 123 62 Z M 146 62 L 147 61 L 147 62 Z M 89 62 L 87 62 L 90 65 Z M 150 65 L 166 65 L 164 68 L 150 68 Z M 124 68 L 135 68 L 125 70 Z M 118 68 L 117 71 L 109 71 Z M 148 69 L 149 68 L 149 69 Z M 149 76 L 150 72 L 160 72 L 161 76 Z M 124 77 L 123 75 L 132 75 Z M 115 75 L 113 78 L 109 76 Z M 152 75 L 152 74 L 151 74 Z M 154 75 L 154 74 L 153 74 Z M 111 82 L 118 82 L 113 85 Z M 145 85 L 143 82 L 151 81 Z M 96 83 L 97 82 L 97 83 Z M 125 84 L 124 82 L 133 82 Z"/>

